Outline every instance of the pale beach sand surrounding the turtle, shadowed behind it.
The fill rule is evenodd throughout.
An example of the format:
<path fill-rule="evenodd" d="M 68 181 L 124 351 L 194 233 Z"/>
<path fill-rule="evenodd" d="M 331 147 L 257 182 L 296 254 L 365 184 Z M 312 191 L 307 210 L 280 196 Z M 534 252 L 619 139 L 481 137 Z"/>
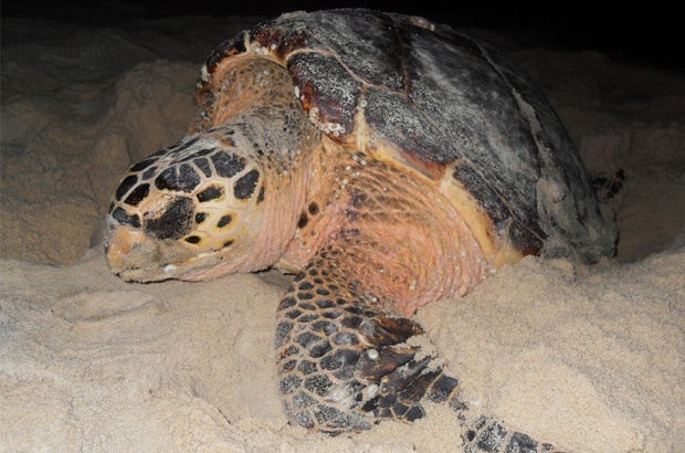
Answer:
<path fill-rule="evenodd" d="M 0 451 L 459 451 L 436 405 L 357 435 L 287 424 L 287 277 L 129 284 L 104 263 L 118 178 L 183 135 L 199 64 L 254 21 L 3 21 Z M 570 452 L 683 452 L 685 77 L 476 32 L 540 83 L 592 173 L 623 170 L 618 257 L 527 257 L 418 319 L 464 398 L 510 425 Z"/>

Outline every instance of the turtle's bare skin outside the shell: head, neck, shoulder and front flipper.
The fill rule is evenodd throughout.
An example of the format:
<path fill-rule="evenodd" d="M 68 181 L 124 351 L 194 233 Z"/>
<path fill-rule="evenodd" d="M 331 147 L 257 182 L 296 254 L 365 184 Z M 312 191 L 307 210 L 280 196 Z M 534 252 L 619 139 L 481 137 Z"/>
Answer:
<path fill-rule="evenodd" d="M 298 272 L 275 339 L 293 423 L 336 434 L 445 402 L 464 451 L 551 451 L 472 414 L 409 318 L 488 272 L 439 188 L 316 131 L 273 62 L 236 59 L 224 71 L 226 89 L 251 95 L 205 103 L 192 135 L 131 167 L 107 217 L 109 266 L 136 281 Z"/>

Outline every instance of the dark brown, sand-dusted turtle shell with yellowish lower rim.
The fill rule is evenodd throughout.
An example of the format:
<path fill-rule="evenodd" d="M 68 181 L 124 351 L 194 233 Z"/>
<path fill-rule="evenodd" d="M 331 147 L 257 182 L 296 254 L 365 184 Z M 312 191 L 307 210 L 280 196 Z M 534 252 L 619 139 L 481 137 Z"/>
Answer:
<path fill-rule="evenodd" d="M 495 249 L 506 242 L 521 254 L 583 262 L 612 253 L 615 230 L 555 112 L 488 45 L 401 14 L 285 14 L 210 55 L 201 103 L 212 102 L 212 74 L 245 53 L 287 69 L 295 96 L 329 139 L 363 144 L 362 151 L 454 189 L 443 190 L 449 198 L 467 193 L 462 210 L 483 214 L 473 223 L 485 227 L 472 227 L 487 230 L 481 236 Z"/>

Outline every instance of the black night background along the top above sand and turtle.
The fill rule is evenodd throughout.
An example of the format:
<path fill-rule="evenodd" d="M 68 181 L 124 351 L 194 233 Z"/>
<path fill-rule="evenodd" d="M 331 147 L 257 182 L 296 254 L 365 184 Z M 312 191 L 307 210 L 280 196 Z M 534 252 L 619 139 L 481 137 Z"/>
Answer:
<path fill-rule="evenodd" d="M 476 27 L 514 33 L 560 50 L 596 50 L 616 61 L 685 71 L 685 23 L 676 3 L 493 2 L 493 1 L 333 1 L 333 0 L 6 0 L 1 17 L 116 25 L 181 15 L 276 17 L 282 12 L 328 8 L 370 8 L 422 15 L 455 28 Z M 678 23 L 679 22 L 679 23 Z"/>

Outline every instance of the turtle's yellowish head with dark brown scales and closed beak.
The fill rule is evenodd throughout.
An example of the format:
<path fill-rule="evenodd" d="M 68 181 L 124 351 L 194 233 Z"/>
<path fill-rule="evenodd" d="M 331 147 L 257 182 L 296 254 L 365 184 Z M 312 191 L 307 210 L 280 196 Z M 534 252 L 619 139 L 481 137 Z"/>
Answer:
<path fill-rule="evenodd" d="M 285 245 L 268 233 L 265 212 L 278 200 L 267 200 L 256 150 L 233 134 L 191 135 L 129 168 L 106 219 L 113 272 L 128 281 L 203 280 L 277 261 Z"/>

